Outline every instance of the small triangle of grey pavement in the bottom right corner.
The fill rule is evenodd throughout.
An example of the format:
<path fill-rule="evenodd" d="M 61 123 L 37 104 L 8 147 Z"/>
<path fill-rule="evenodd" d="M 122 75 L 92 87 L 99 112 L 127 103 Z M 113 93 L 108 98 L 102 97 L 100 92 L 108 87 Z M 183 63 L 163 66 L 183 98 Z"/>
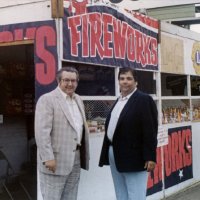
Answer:
<path fill-rule="evenodd" d="M 163 200 L 200 200 L 200 182 L 195 183 L 194 185 L 187 187 Z"/>

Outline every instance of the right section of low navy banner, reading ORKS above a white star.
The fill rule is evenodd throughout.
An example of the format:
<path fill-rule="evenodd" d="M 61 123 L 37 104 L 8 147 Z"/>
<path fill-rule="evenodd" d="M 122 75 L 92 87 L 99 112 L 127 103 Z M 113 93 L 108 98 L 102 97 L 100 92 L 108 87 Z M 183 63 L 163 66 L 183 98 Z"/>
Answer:
<path fill-rule="evenodd" d="M 165 188 L 193 178 L 191 126 L 168 130 L 169 144 L 164 147 Z"/>

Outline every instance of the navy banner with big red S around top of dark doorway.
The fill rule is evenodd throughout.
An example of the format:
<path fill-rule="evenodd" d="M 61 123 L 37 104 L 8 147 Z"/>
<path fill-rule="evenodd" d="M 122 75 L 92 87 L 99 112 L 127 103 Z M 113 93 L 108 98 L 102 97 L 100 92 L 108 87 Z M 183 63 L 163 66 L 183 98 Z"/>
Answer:
<path fill-rule="evenodd" d="M 55 21 L 29 22 L 0 26 L 0 44 L 33 40 L 35 99 L 55 87 L 57 36 Z"/>

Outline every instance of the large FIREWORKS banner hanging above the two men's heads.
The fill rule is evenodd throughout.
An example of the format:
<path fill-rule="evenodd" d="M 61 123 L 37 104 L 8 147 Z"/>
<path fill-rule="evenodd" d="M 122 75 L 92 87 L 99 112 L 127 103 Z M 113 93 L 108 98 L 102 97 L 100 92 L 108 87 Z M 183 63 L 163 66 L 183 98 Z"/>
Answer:
<path fill-rule="evenodd" d="M 157 20 L 88 2 L 64 1 L 64 60 L 158 70 Z"/>

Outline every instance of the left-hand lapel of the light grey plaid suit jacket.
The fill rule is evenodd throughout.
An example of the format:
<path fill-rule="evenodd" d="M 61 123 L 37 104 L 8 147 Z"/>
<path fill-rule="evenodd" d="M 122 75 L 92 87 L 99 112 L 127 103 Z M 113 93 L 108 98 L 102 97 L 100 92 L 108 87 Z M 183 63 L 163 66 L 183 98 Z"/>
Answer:
<path fill-rule="evenodd" d="M 58 100 L 58 103 L 59 103 L 63 113 L 65 114 L 65 117 L 69 121 L 70 125 L 74 128 L 74 130 L 76 130 L 74 121 L 73 121 L 72 116 L 69 111 L 69 108 L 67 107 L 67 102 L 63 98 L 62 94 L 60 93 L 60 91 L 58 89 L 55 89 L 55 96 Z"/>

